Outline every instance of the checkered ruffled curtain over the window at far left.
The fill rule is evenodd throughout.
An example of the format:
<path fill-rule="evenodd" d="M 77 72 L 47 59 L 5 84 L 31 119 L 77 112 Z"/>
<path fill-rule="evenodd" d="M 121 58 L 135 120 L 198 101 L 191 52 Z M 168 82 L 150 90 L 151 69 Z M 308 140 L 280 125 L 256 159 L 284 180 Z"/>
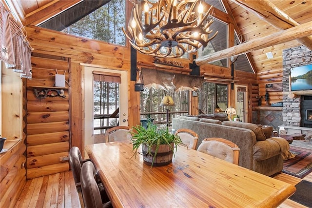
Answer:
<path fill-rule="evenodd" d="M 25 40 L 22 26 L 0 3 L 0 60 L 7 68 L 20 73 L 20 77 L 32 78 L 31 47 Z"/>

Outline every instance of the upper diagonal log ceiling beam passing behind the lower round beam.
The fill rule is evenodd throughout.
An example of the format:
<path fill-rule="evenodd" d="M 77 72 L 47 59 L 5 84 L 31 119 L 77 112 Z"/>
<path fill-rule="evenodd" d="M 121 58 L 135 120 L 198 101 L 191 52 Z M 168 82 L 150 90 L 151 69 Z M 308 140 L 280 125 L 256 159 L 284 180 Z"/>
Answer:
<path fill-rule="evenodd" d="M 261 20 L 280 30 L 300 25 L 269 0 L 232 0 L 247 11 L 254 13 Z M 312 50 L 312 36 L 297 39 L 298 42 Z"/>

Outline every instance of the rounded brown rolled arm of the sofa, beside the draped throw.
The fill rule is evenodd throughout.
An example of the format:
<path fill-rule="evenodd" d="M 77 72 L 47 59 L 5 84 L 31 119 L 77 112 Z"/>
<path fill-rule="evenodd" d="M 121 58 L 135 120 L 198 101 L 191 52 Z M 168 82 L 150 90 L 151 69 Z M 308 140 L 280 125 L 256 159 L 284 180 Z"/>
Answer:
<path fill-rule="evenodd" d="M 269 159 L 275 155 L 281 154 L 281 148 L 277 142 L 268 139 L 265 141 L 258 141 L 254 147 L 254 160 L 261 161 Z"/>

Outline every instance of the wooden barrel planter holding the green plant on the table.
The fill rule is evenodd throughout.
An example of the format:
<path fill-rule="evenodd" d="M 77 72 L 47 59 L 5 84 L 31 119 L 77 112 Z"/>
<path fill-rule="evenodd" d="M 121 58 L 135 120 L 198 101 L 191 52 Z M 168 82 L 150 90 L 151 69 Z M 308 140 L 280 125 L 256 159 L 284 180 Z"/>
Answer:
<path fill-rule="evenodd" d="M 174 143 L 169 145 L 159 145 L 158 152 L 154 159 L 156 146 L 153 146 L 151 153 L 148 154 L 148 146 L 142 145 L 143 163 L 149 166 L 166 166 L 172 163 Z M 154 163 L 153 163 L 154 159 Z"/>

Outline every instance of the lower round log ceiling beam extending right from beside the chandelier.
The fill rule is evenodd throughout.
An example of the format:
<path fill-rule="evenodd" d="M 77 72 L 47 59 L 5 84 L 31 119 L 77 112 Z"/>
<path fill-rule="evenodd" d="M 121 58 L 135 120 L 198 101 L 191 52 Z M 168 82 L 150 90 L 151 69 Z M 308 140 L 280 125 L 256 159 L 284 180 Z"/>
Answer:
<path fill-rule="evenodd" d="M 205 63 L 218 61 L 221 59 L 229 58 L 232 56 L 238 56 L 244 53 L 248 53 L 254 50 L 259 50 L 266 48 L 272 45 L 277 45 L 284 42 L 289 42 L 295 39 L 307 37 L 312 35 L 311 22 L 307 22 L 287 30 L 282 30 L 280 32 L 268 35 L 266 37 L 253 39 L 249 42 L 244 42 L 239 45 L 235 45 L 231 48 L 227 48 L 221 51 L 218 51 L 213 54 L 209 54 L 200 58 L 195 59 L 197 65 L 203 65 Z"/>

